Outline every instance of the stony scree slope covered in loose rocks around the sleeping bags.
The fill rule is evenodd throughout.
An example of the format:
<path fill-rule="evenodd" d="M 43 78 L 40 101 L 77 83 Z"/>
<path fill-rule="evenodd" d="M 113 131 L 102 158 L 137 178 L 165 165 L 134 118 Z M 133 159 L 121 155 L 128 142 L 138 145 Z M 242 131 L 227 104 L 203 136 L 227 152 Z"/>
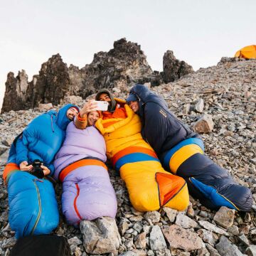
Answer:
<path fill-rule="evenodd" d="M 119 234 L 110 218 L 83 221 L 81 230 L 61 218 L 55 233 L 68 238 L 73 255 L 256 255 L 256 60 L 223 58 L 217 66 L 152 90 L 165 98 L 183 122 L 203 132 L 206 154 L 213 161 L 238 183 L 250 187 L 254 198 L 250 213 L 228 208 L 211 211 L 193 198 L 182 213 L 169 208 L 139 213 L 132 208 L 119 174 L 110 169 L 118 201 Z M 119 97 L 126 97 L 128 91 L 127 87 L 114 88 Z M 84 102 L 80 97 L 65 101 Z M 19 110 L 0 115 L 0 255 L 9 255 L 16 242 L 8 223 L 8 196 L 2 180 L 9 146 L 41 112 Z M 201 117 L 206 125 L 198 125 Z M 61 185 L 55 190 L 60 201 Z M 98 242 L 92 247 L 95 238 Z"/>

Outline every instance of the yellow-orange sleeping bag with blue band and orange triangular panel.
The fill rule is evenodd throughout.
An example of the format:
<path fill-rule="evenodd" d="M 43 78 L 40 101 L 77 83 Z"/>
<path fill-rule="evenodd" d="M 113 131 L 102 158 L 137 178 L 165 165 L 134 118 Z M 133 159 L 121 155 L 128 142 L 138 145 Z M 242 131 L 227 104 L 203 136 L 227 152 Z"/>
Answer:
<path fill-rule="evenodd" d="M 164 171 L 154 150 L 142 139 L 139 116 L 128 105 L 124 108 L 127 118 L 100 118 L 96 127 L 105 138 L 107 157 L 126 183 L 132 206 L 142 212 L 163 206 L 185 210 L 189 202 L 186 182 Z"/>

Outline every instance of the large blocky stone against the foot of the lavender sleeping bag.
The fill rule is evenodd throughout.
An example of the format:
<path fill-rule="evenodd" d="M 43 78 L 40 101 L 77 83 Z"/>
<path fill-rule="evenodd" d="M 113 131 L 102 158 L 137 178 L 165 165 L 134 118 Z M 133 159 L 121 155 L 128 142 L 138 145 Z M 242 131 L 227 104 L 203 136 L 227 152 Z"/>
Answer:
<path fill-rule="evenodd" d="M 109 217 L 97 218 L 95 222 L 82 220 L 80 230 L 87 253 L 115 253 L 121 242 L 115 220 Z"/>

